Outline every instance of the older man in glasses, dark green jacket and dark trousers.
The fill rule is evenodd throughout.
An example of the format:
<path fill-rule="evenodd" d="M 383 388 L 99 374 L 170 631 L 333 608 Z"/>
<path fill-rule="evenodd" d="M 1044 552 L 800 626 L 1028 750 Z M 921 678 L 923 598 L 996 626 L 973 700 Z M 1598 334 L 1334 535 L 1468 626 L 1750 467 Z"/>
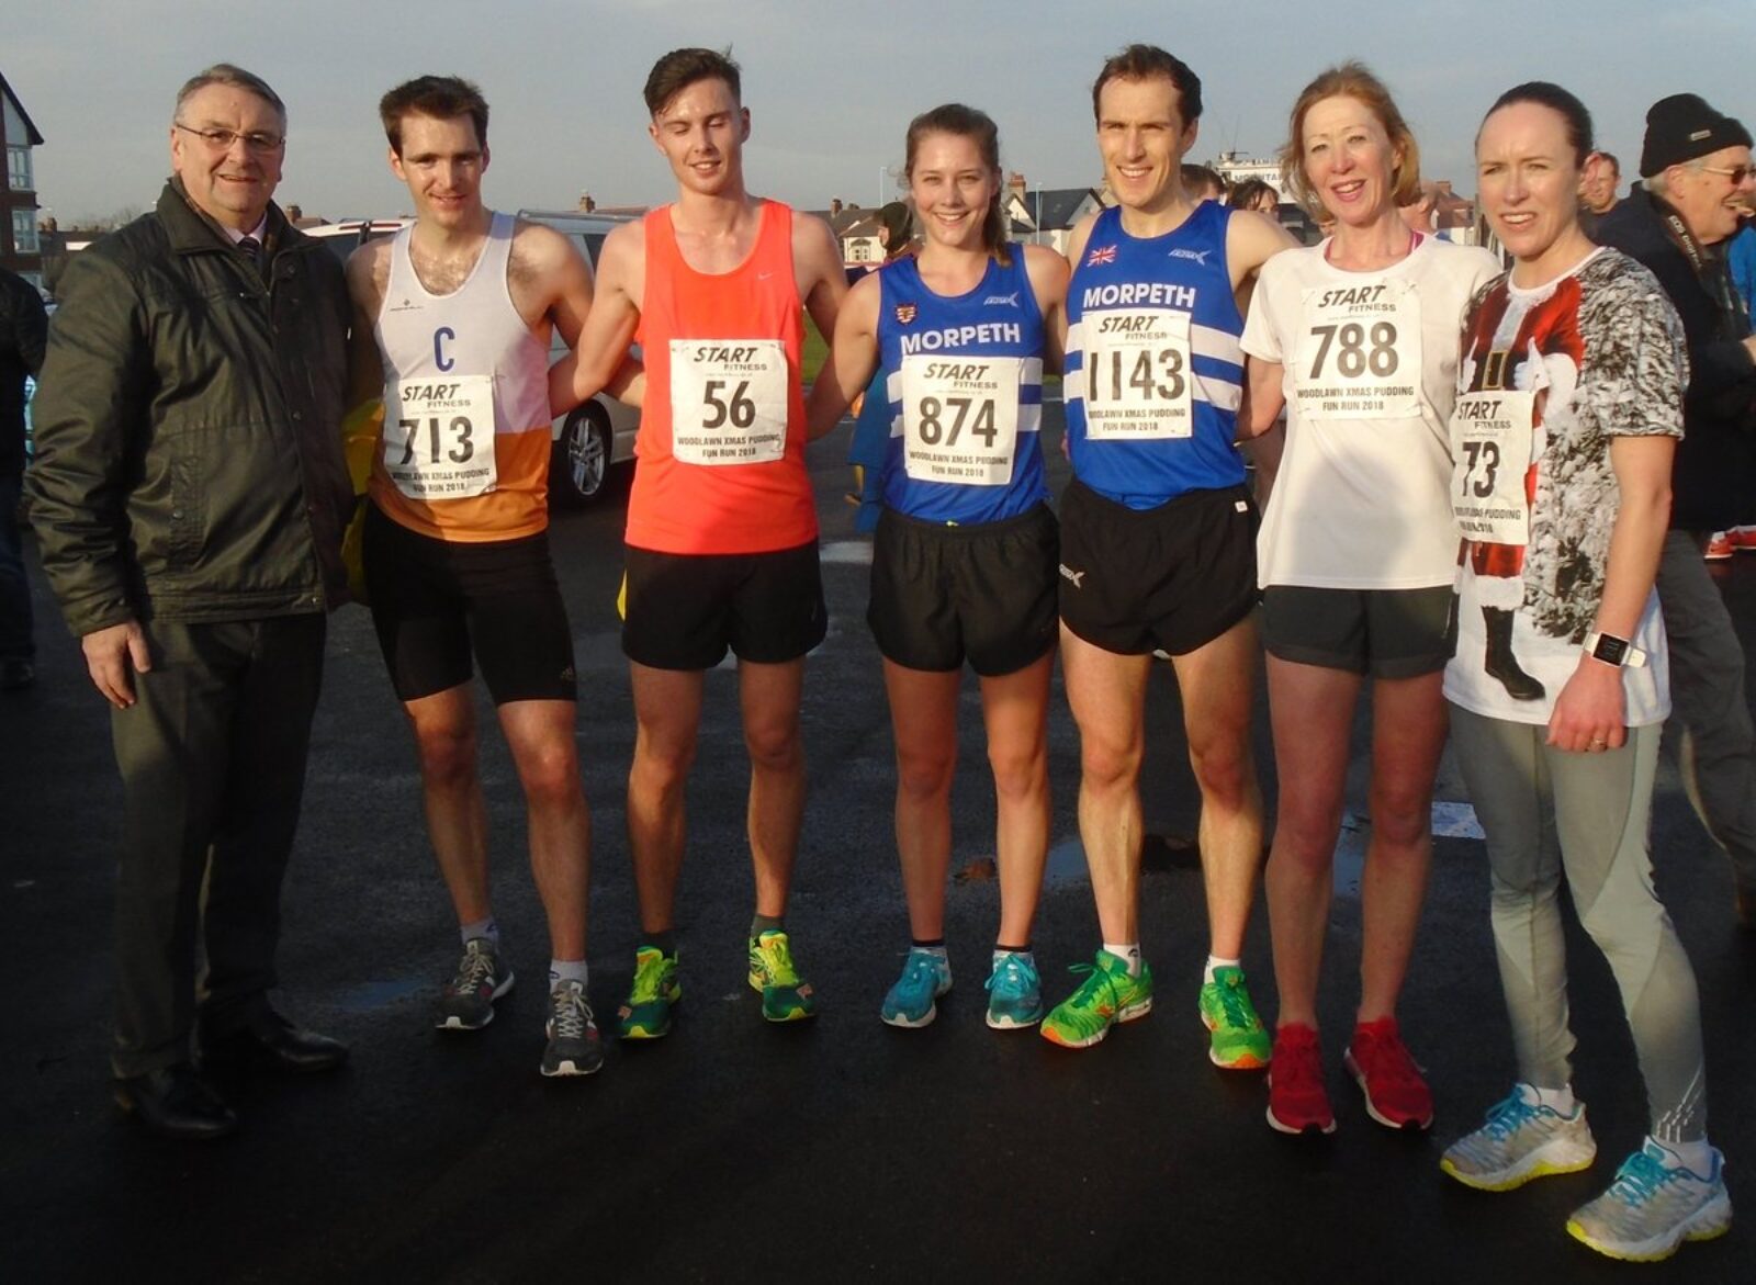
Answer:
<path fill-rule="evenodd" d="M 348 295 L 272 204 L 284 147 L 262 79 L 221 63 L 183 86 L 176 177 L 68 265 L 37 400 L 42 567 L 114 706 L 125 790 L 116 1099 L 176 1138 L 235 1127 L 214 1064 L 348 1052 L 267 999 L 353 502 Z"/>

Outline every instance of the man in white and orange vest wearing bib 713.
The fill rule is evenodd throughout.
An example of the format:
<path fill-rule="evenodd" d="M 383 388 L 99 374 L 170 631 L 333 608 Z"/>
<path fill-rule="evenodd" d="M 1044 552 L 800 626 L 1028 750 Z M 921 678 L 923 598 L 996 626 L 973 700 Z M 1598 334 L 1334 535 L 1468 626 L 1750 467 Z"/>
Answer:
<path fill-rule="evenodd" d="M 572 630 L 548 553 L 546 383 L 551 328 L 578 341 L 592 272 L 558 232 L 483 205 L 488 104 L 474 84 L 423 75 L 386 93 L 379 114 L 416 219 L 348 262 L 351 404 L 385 395 L 390 407 L 365 574 L 464 946 L 435 1023 L 485 1027 L 513 985 L 488 901 L 474 657 L 525 790 L 548 918 L 539 1069 L 590 1074 L 602 1064 L 585 969 L 590 818 L 572 736 Z"/>

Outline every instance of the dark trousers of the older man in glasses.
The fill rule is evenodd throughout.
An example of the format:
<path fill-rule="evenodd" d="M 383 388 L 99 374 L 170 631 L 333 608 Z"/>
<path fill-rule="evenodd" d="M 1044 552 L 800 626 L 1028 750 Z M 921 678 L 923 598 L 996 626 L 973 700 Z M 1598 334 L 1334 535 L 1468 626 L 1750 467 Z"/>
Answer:
<path fill-rule="evenodd" d="M 146 632 L 153 667 L 133 676 L 135 706 L 111 711 L 118 1076 L 190 1060 L 198 937 L 204 1022 L 227 1029 L 267 1006 L 323 676 L 320 614 Z"/>

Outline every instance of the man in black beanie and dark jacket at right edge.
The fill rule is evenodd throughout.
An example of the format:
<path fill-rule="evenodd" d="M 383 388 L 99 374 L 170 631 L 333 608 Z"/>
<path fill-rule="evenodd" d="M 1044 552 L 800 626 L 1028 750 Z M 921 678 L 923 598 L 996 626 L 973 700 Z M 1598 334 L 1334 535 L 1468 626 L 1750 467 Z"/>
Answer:
<path fill-rule="evenodd" d="M 1640 260 L 1682 316 L 1689 348 L 1684 439 L 1672 470 L 1670 532 L 1658 569 L 1670 635 L 1672 720 L 1689 800 L 1730 853 L 1738 918 L 1756 930 L 1756 727 L 1744 650 L 1702 553 L 1756 488 L 1756 339 L 1723 256 L 1756 193 L 1751 133 L 1693 93 L 1647 112 L 1640 177 L 1598 240 Z"/>

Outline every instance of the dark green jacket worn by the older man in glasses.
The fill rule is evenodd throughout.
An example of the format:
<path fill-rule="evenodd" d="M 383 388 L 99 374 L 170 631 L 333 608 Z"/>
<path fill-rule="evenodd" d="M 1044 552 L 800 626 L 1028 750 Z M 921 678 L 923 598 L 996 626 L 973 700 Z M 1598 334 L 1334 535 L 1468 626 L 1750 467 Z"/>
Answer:
<path fill-rule="evenodd" d="M 265 240 L 258 270 L 172 181 L 67 265 L 28 477 L 74 634 L 348 600 L 348 290 L 274 205 Z"/>

